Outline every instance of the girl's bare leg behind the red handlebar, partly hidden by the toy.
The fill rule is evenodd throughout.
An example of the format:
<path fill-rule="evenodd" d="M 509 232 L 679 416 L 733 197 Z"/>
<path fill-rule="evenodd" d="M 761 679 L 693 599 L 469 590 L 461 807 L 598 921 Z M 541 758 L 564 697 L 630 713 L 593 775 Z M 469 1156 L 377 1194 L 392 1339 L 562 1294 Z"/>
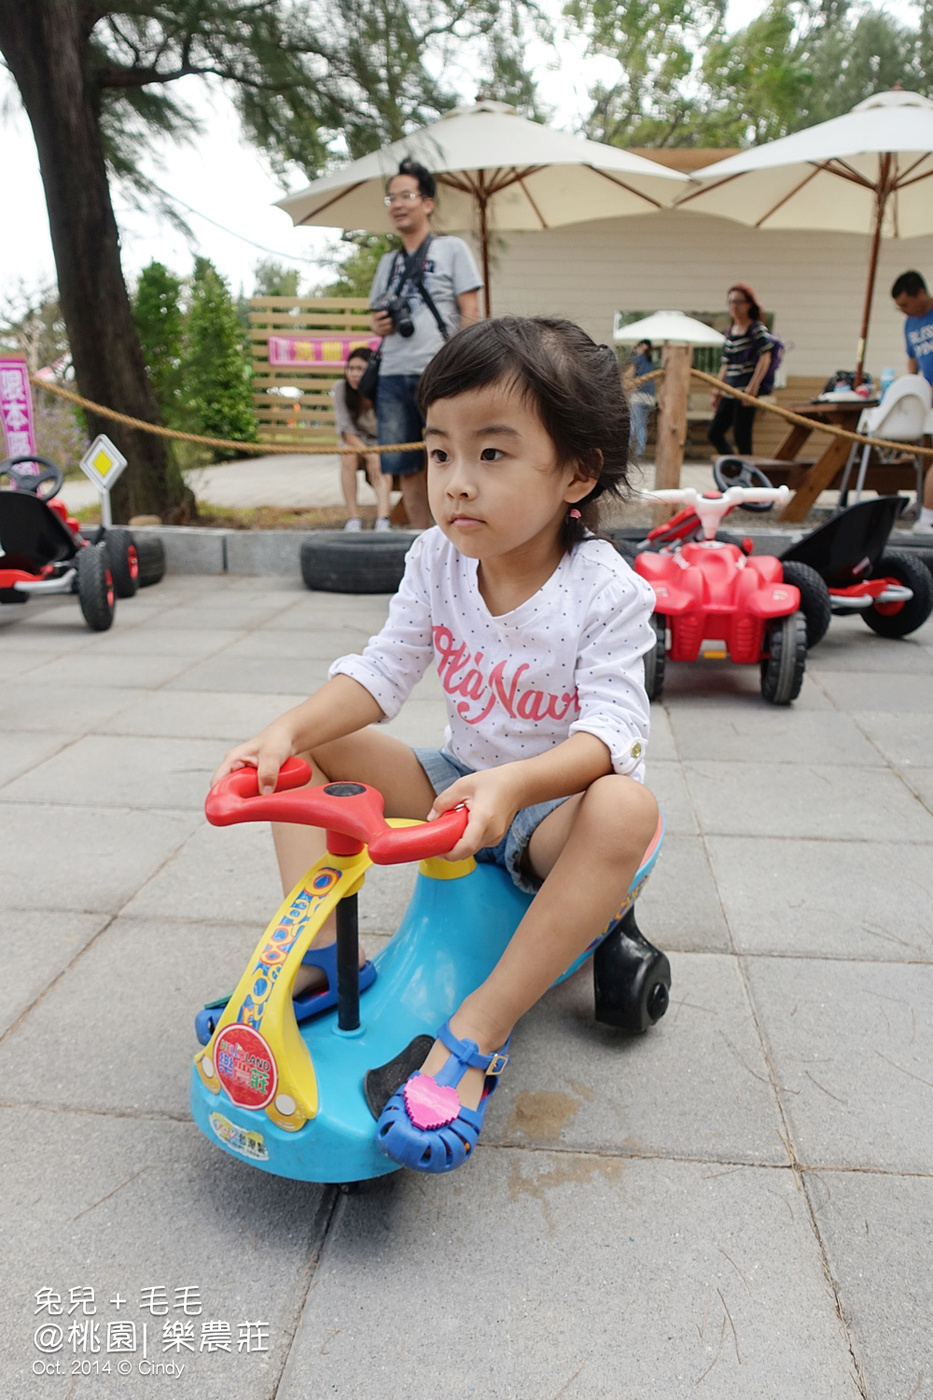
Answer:
<path fill-rule="evenodd" d="M 375 728 L 360 729 L 345 739 L 335 739 L 333 743 L 321 745 L 319 749 L 303 753 L 301 757 L 307 759 L 312 769 L 308 787 L 340 780 L 368 783 L 385 798 L 385 812 L 389 816 L 423 819 L 434 802 L 434 788 L 409 746 Z M 279 861 L 282 889 L 287 895 L 324 855 L 325 836 L 315 826 L 273 822 L 272 840 Z M 336 918 L 332 914 L 321 928 L 314 946 L 322 948 L 335 938 Z M 307 991 L 324 980 L 319 967 L 301 967 L 294 990 Z"/>

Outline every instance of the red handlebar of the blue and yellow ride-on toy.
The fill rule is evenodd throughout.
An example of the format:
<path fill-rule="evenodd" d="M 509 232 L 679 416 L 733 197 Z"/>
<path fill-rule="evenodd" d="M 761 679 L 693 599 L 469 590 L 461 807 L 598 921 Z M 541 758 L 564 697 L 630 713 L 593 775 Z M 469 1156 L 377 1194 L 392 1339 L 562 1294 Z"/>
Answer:
<path fill-rule="evenodd" d="M 311 767 L 304 759 L 289 759 L 279 770 L 275 792 L 261 795 L 256 770 L 235 769 L 210 790 L 205 813 L 212 826 L 233 826 L 235 822 L 321 826 L 328 833 L 332 854 L 354 855 L 361 846 L 368 846 L 377 865 L 402 865 L 405 861 L 445 855 L 469 820 L 466 808 L 455 806 L 436 822 L 394 827 L 382 816 L 382 794 L 375 788 L 364 783 L 328 783 L 310 788 L 304 785 L 310 777 Z"/>

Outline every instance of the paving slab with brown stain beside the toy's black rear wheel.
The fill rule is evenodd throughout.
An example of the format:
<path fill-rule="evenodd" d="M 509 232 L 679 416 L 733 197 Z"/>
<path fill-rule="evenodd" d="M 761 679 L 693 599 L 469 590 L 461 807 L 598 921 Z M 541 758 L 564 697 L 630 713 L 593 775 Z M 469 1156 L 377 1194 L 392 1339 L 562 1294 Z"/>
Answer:
<path fill-rule="evenodd" d="M 768 1162 L 787 1154 L 741 977 L 731 958 L 671 958 L 671 1008 L 643 1036 L 600 1026 L 583 967 L 513 1033 L 483 1140 L 511 1147 Z"/>

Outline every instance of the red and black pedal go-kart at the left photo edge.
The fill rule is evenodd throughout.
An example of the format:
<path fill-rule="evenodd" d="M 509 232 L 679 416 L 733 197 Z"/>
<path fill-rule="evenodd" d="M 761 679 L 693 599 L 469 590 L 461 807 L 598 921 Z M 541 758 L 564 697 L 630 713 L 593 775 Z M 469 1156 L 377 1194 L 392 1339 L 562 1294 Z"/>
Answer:
<path fill-rule="evenodd" d="M 83 539 L 78 522 L 53 500 L 62 472 L 43 456 L 8 458 L 0 462 L 1 476 L 10 487 L 0 490 L 0 603 L 77 594 L 88 627 L 106 631 L 116 598 L 130 598 L 139 584 L 130 532 L 99 529 L 92 540 Z"/>

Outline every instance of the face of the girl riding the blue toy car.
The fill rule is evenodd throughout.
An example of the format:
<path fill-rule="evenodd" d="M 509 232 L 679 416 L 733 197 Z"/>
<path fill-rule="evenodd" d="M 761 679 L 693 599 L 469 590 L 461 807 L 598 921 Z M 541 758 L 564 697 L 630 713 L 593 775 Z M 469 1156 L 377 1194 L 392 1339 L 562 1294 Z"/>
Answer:
<path fill-rule="evenodd" d="M 573 462 L 558 465 L 546 428 L 514 386 L 437 399 L 424 442 L 431 512 L 462 554 L 518 570 L 553 554 L 556 567 L 565 515 L 593 479 Z"/>

